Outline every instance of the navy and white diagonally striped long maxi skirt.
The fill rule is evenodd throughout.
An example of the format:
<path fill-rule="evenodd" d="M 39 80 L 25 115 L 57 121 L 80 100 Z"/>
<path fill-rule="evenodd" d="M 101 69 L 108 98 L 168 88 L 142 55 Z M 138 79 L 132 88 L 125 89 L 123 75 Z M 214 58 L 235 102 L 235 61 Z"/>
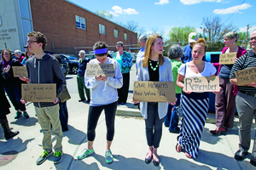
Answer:
<path fill-rule="evenodd" d="M 177 137 L 178 144 L 195 158 L 198 155 L 201 133 L 207 121 L 209 93 L 183 93 L 182 103 L 183 117 Z"/>

